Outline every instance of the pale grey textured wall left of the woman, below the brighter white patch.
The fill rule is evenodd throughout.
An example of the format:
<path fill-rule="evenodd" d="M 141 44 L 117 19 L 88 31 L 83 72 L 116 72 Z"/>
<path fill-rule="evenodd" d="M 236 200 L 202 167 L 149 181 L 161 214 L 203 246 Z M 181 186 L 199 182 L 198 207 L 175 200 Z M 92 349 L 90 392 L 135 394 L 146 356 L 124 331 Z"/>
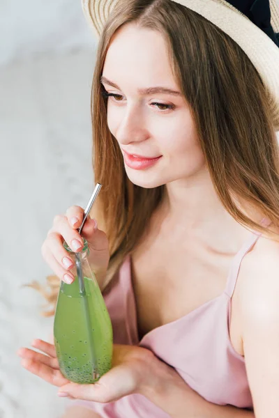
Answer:
<path fill-rule="evenodd" d="M 54 215 L 85 207 L 91 169 L 90 50 L 0 68 L 0 417 L 58 418 L 57 389 L 22 369 L 16 351 L 47 339 L 44 300 L 23 288 L 52 271 L 40 248 Z"/>

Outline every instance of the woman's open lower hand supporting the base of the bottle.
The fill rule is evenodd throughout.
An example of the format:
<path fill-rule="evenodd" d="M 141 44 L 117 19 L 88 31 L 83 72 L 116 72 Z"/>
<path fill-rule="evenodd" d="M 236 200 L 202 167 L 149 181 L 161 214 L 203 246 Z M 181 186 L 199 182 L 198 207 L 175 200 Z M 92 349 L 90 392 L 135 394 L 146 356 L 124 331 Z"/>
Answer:
<path fill-rule="evenodd" d="M 70 382 L 59 371 L 56 351 L 52 344 L 43 340 L 33 341 L 32 346 L 42 353 L 21 348 L 18 355 L 22 366 L 51 385 L 59 387 L 59 396 L 84 399 L 100 403 L 116 401 L 129 394 L 146 394 L 159 387 L 161 374 L 170 369 L 165 363 L 142 347 L 114 344 L 112 369 L 94 385 Z"/>

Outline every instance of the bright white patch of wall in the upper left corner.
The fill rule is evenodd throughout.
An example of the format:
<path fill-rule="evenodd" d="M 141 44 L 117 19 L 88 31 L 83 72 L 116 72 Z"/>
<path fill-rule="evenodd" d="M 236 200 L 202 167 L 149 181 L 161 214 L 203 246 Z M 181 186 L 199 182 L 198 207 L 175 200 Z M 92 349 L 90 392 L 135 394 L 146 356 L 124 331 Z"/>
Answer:
<path fill-rule="evenodd" d="M 46 51 L 90 47 L 80 0 L 1 0 L 0 65 Z"/>

